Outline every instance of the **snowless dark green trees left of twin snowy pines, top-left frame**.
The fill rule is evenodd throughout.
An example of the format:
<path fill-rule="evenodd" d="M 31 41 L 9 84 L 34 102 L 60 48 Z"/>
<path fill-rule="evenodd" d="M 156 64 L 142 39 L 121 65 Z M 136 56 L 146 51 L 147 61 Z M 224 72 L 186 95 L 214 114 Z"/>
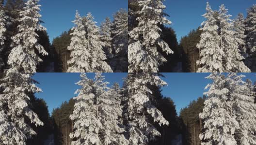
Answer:
<path fill-rule="evenodd" d="M 71 42 L 71 29 L 64 31 L 61 36 L 56 37 L 52 41 L 52 46 L 54 49 L 54 62 L 55 62 L 55 72 L 66 72 L 68 65 L 67 60 L 70 59 L 70 51 L 67 49 Z"/>

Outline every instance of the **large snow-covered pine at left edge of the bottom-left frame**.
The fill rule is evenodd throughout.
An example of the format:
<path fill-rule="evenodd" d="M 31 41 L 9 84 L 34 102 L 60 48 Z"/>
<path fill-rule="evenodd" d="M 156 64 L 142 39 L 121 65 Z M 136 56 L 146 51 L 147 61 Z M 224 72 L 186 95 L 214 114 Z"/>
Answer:
<path fill-rule="evenodd" d="M 43 122 L 29 108 L 30 98 L 27 93 L 40 92 L 41 89 L 35 86 L 32 74 L 7 73 L 1 81 L 0 143 L 26 145 L 26 140 L 36 135 L 28 123 L 43 126 Z"/>

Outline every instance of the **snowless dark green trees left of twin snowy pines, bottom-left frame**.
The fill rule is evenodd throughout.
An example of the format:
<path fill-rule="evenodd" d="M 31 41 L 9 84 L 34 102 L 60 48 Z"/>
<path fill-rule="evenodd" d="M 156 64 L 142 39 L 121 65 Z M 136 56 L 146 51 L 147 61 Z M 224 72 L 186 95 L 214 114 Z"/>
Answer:
<path fill-rule="evenodd" d="M 69 133 L 73 131 L 73 121 L 69 116 L 73 113 L 75 101 L 63 102 L 59 108 L 52 111 L 54 121 L 55 145 L 70 145 Z"/>

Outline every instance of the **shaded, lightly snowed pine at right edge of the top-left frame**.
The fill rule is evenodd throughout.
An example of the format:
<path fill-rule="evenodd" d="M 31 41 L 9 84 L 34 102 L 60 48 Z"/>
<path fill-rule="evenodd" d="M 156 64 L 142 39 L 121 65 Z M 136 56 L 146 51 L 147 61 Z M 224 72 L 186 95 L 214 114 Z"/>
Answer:
<path fill-rule="evenodd" d="M 112 43 L 114 72 L 128 72 L 128 12 L 120 9 L 113 15 Z"/>

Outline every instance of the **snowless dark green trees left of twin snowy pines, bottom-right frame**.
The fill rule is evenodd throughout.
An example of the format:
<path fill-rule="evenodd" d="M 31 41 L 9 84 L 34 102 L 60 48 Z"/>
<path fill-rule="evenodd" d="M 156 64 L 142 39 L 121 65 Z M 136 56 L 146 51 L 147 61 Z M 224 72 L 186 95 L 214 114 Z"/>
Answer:
<path fill-rule="evenodd" d="M 184 145 L 201 145 L 199 134 L 203 128 L 203 120 L 199 113 L 203 112 L 206 96 L 192 101 L 188 107 L 180 110 L 180 121 L 182 124 L 182 141 Z"/>

